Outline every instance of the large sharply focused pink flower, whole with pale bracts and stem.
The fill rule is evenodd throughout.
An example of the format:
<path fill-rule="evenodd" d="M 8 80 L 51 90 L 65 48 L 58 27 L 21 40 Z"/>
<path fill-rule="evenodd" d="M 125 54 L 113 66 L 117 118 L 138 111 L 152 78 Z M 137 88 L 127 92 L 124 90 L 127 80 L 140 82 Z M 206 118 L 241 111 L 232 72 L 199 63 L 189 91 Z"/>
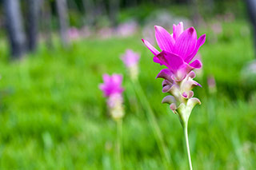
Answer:
<path fill-rule="evenodd" d="M 173 113 L 179 117 L 186 139 L 190 169 L 192 169 L 187 125 L 192 109 L 195 105 L 201 104 L 198 98 L 193 97 L 192 89 L 201 85 L 193 80 L 195 73 L 192 70 L 202 68 L 200 60 L 192 60 L 198 53 L 200 46 L 206 41 L 206 35 L 203 34 L 200 38 L 197 38 L 193 27 L 183 30 L 182 22 L 178 26 L 173 26 L 173 34 L 169 34 L 161 26 L 154 26 L 154 28 L 158 46 L 162 51 L 159 52 L 146 40 L 142 39 L 142 42 L 154 54 L 153 61 L 167 67 L 167 69 L 162 69 L 157 76 L 157 78 L 164 79 L 162 81 L 162 92 L 170 93 L 170 95 L 163 98 L 162 103 L 169 104 Z"/>

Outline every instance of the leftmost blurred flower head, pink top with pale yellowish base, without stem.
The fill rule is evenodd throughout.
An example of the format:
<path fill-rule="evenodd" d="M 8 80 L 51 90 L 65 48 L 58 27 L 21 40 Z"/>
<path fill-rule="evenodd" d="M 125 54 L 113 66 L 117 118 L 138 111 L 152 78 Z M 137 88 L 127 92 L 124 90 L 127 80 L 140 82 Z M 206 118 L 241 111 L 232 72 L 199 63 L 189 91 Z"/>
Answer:
<path fill-rule="evenodd" d="M 99 89 L 102 90 L 104 96 L 107 98 L 107 105 L 110 109 L 111 117 L 115 121 L 118 121 L 124 116 L 122 108 L 122 75 L 113 74 L 110 76 L 104 74 L 103 81 L 104 83 L 99 85 Z"/>

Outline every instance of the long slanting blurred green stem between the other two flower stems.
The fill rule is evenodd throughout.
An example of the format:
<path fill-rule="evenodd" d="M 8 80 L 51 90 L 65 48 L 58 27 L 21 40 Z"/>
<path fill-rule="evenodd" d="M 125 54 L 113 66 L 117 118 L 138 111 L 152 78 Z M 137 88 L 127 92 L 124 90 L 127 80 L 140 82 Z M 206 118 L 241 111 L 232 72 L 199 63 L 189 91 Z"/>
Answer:
<path fill-rule="evenodd" d="M 151 128 L 154 133 L 154 137 L 157 141 L 159 151 L 161 153 L 163 162 L 166 165 L 166 168 L 170 168 L 170 152 L 168 148 L 166 147 L 166 144 L 164 143 L 162 132 L 158 126 L 158 122 L 156 121 L 156 117 L 154 116 L 153 109 L 150 106 L 149 101 L 147 101 L 146 95 L 142 90 L 142 86 L 140 85 L 139 81 L 133 81 L 134 84 L 134 90 L 138 94 L 138 98 L 141 101 L 142 105 L 144 105 L 146 109 L 146 116 L 150 122 Z M 164 157 L 164 158 L 163 158 Z"/>

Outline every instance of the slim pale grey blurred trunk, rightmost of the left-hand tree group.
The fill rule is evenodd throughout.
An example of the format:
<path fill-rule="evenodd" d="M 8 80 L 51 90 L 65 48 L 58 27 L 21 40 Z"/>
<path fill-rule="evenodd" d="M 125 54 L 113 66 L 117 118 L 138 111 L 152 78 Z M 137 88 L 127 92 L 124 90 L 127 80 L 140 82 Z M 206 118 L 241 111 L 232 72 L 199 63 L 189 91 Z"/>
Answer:
<path fill-rule="evenodd" d="M 56 0 L 56 6 L 58 11 L 58 20 L 59 20 L 59 29 L 62 39 L 62 46 L 67 47 L 70 43 L 69 37 L 68 37 L 68 10 L 67 10 L 67 4 L 66 0 Z"/>

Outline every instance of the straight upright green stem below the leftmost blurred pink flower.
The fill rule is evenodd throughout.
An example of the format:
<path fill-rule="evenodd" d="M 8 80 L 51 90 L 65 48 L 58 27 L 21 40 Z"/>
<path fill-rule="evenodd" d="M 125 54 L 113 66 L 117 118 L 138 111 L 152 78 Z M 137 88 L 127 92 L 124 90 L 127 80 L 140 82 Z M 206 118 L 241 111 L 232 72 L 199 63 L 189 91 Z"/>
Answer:
<path fill-rule="evenodd" d="M 122 119 L 117 120 L 117 133 L 118 169 L 122 169 Z"/>

